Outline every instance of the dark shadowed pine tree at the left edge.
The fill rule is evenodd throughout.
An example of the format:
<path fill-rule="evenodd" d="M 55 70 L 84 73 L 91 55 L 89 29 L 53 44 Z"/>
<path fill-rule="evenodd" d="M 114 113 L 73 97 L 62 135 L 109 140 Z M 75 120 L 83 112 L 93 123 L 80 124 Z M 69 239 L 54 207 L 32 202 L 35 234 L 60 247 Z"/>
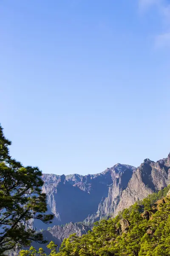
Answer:
<path fill-rule="evenodd" d="M 16 245 L 28 246 L 31 241 L 44 242 L 41 233 L 30 228 L 30 219 L 51 222 L 45 215 L 46 195 L 41 193 L 42 172 L 38 167 L 24 167 L 9 155 L 11 142 L 0 126 L 0 255 Z M 34 252 L 31 252 L 34 256 Z M 24 254 L 23 254 L 24 255 Z"/>

